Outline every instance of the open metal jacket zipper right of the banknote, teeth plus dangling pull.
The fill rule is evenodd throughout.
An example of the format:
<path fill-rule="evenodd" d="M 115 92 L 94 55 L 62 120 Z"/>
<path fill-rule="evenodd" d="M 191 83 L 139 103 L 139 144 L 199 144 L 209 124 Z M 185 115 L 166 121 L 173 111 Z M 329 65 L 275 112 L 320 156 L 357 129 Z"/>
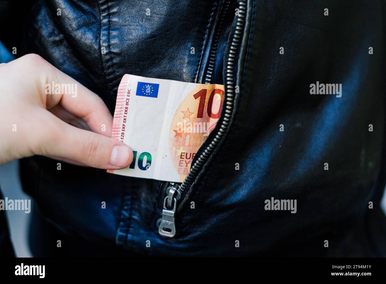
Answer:
<path fill-rule="evenodd" d="M 240 0 L 239 4 L 239 13 L 237 15 L 236 29 L 232 38 L 232 43 L 229 48 L 228 59 L 227 59 L 227 75 L 226 75 L 226 104 L 225 104 L 225 114 L 223 120 L 221 121 L 220 129 L 218 130 L 215 138 L 210 142 L 209 146 L 201 153 L 196 162 L 191 166 L 188 175 L 181 183 L 172 184 L 169 183 L 166 190 L 166 197 L 164 198 L 164 205 L 162 210 L 162 220 L 160 222 L 158 233 L 162 236 L 173 237 L 176 235 L 176 211 L 178 209 L 178 202 L 181 200 L 181 196 L 188 185 L 192 180 L 195 179 L 197 173 L 199 172 L 203 163 L 208 159 L 212 154 L 213 150 L 220 142 L 222 136 L 225 133 L 225 130 L 229 127 L 229 121 L 234 108 L 234 83 L 233 83 L 233 74 L 234 74 L 234 64 L 236 57 L 236 50 L 239 46 L 239 42 L 242 37 L 242 29 L 244 27 L 244 18 L 245 18 L 245 0 Z M 213 68 L 212 68 L 213 69 Z"/>

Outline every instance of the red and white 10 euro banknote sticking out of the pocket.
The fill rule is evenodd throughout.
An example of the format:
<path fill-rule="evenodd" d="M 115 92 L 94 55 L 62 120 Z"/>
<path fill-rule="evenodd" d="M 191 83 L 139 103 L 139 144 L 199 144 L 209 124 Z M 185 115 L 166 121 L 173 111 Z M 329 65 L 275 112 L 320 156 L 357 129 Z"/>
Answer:
<path fill-rule="evenodd" d="M 108 172 L 182 182 L 215 128 L 223 99 L 223 85 L 124 75 L 112 138 L 128 145 L 134 158 L 129 167 Z"/>

